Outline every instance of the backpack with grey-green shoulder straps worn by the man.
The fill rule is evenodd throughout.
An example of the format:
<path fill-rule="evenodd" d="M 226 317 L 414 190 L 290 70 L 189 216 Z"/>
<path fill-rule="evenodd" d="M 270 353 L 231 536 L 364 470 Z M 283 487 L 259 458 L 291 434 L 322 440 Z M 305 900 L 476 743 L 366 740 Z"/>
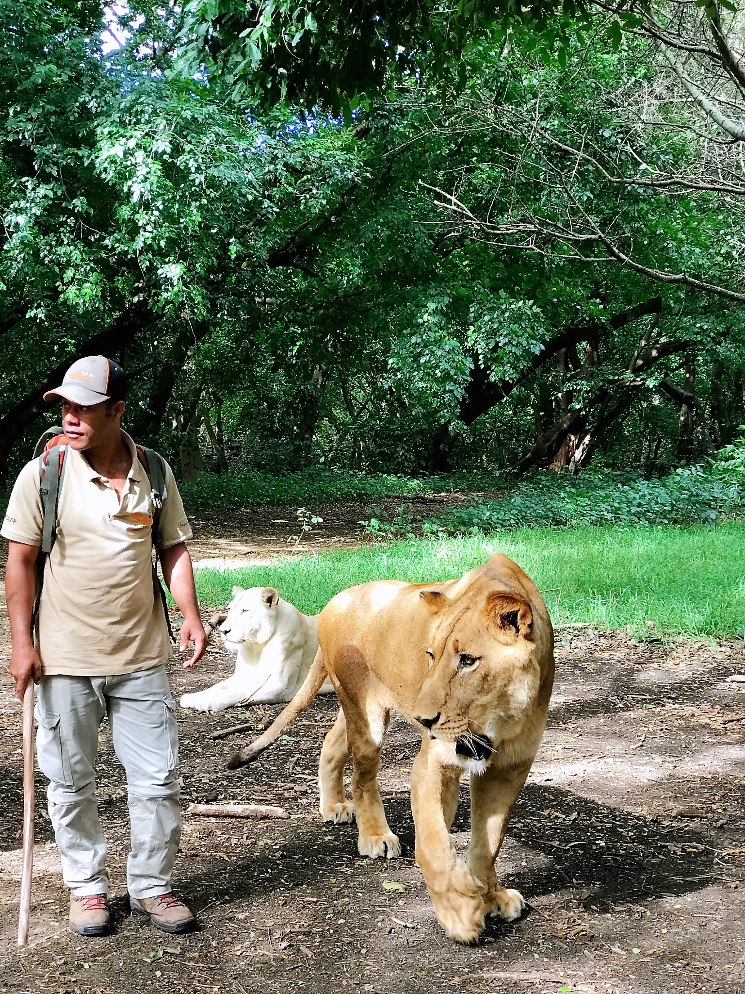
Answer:
<path fill-rule="evenodd" d="M 158 512 L 163 507 L 166 499 L 166 472 L 165 463 L 158 453 L 152 448 L 143 448 L 135 445 L 137 458 L 140 460 L 147 473 L 150 482 L 150 500 L 155 509 L 153 518 L 153 528 L 157 528 Z M 36 617 L 39 613 L 39 604 L 42 596 L 42 584 L 44 583 L 44 566 L 47 557 L 52 553 L 52 549 L 57 541 L 57 516 L 60 506 L 60 493 L 65 479 L 65 465 L 68 454 L 68 439 L 61 427 L 48 428 L 36 443 L 34 448 L 34 458 L 39 459 L 39 487 L 42 496 L 42 510 L 44 514 L 44 526 L 42 531 L 42 546 L 36 562 L 36 597 L 34 600 L 34 611 L 31 618 L 32 632 L 35 627 Z M 55 472 L 57 469 L 57 472 Z M 152 534 L 152 530 L 151 530 Z M 155 543 L 153 542 L 153 548 Z M 168 601 L 166 591 L 163 589 L 160 577 L 158 576 L 158 555 L 156 551 L 153 566 L 153 592 L 156 597 L 160 597 L 163 604 L 163 612 L 166 615 L 168 634 L 173 640 L 171 629 L 171 619 L 168 615 Z"/>

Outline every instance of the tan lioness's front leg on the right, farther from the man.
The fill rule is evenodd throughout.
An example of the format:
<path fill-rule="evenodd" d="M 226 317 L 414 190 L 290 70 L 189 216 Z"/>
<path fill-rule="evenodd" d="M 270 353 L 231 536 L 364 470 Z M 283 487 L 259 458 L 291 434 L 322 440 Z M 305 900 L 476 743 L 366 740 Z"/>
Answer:
<path fill-rule="evenodd" d="M 515 802 L 530 771 L 531 759 L 515 766 L 490 766 L 471 777 L 471 843 L 468 867 L 493 917 L 514 921 L 525 907 L 520 891 L 500 887 L 495 869 Z"/>

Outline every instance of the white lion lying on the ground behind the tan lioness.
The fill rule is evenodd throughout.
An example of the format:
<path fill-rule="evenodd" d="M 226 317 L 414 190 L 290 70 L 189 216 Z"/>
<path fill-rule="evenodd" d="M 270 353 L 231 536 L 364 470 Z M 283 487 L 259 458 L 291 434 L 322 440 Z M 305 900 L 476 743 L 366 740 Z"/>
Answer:
<path fill-rule="evenodd" d="M 315 617 L 282 600 L 273 586 L 233 586 L 220 631 L 225 649 L 235 653 L 235 672 L 208 690 L 184 694 L 182 708 L 223 711 L 292 700 L 318 649 Z M 333 692 L 327 679 L 321 693 Z"/>

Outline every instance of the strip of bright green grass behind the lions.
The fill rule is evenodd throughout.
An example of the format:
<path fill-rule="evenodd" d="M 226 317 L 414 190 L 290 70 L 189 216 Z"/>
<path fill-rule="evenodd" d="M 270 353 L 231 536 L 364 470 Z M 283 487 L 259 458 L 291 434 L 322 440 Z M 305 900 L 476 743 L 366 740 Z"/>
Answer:
<path fill-rule="evenodd" d="M 745 636 L 745 524 L 692 528 L 518 529 L 487 536 L 410 540 L 279 560 L 272 566 L 200 570 L 204 605 L 224 604 L 233 583 L 276 586 L 313 614 L 366 580 L 460 577 L 493 552 L 514 559 L 538 586 L 554 624 L 632 626 L 649 633 Z"/>

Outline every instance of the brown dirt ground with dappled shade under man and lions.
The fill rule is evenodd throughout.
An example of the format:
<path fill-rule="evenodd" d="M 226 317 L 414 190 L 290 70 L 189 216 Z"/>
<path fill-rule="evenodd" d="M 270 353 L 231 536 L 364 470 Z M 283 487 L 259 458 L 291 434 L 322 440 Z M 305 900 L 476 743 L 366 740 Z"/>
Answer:
<path fill-rule="evenodd" d="M 264 542 L 284 551 L 279 523 L 273 533 L 267 523 L 254 533 L 230 514 L 211 531 L 205 520 L 198 544 L 223 556 L 234 550 L 229 542 L 242 543 L 239 555 L 270 553 Z M 333 522 L 329 538 L 355 541 Z M 38 774 L 32 945 L 19 954 L 20 706 L 2 678 L 0 990 L 745 991 L 745 685 L 727 682 L 745 670 L 742 644 L 559 634 L 549 727 L 499 861 L 503 881 L 529 908 L 512 924 L 490 921 L 468 947 L 437 924 L 413 862 L 415 730 L 393 724 L 380 777 L 403 857 L 363 860 L 355 827 L 323 824 L 317 813 L 316 764 L 335 715 L 333 700 L 317 700 L 284 741 L 235 773 L 224 759 L 239 740 L 209 734 L 258 725 L 279 707 L 179 711 L 185 807 L 240 798 L 291 814 L 257 824 L 185 818 L 176 886 L 202 928 L 182 938 L 125 912 L 125 786 L 106 727 L 98 793 L 115 896 L 110 936 L 84 940 L 66 928 L 67 892 Z M 2 651 L 6 672 L 7 642 Z M 217 646 L 196 672 L 174 660 L 174 693 L 206 687 L 229 669 Z M 454 825 L 460 851 L 468 809 L 464 782 Z"/>

